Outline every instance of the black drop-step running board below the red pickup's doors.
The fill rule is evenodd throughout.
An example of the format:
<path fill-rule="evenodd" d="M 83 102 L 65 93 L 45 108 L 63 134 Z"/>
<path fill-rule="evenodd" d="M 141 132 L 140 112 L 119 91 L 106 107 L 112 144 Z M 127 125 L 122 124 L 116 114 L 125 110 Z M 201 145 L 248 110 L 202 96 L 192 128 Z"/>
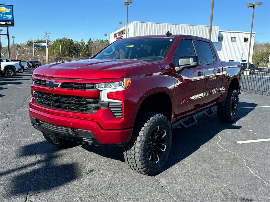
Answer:
<path fill-rule="evenodd" d="M 201 112 L 198 112 L 197 114 L 194 114 L 192 116 L 188 116 L 184 119 L 181 119 L 180 121 L 177 121 L 173 124 L 171 124 L 172 128 L 177 128 L 177 127 L 190 127 L 192 125 L 194 125 L 195 123 L 197 123 L 197 119 L 198 117 L 205 115 L 205 116 L 212 116 L 215 113 L 215 109 L 217 109 L 217 106 L 214 107 L 210 107 L 208 109 L 205 109 Z"/>

